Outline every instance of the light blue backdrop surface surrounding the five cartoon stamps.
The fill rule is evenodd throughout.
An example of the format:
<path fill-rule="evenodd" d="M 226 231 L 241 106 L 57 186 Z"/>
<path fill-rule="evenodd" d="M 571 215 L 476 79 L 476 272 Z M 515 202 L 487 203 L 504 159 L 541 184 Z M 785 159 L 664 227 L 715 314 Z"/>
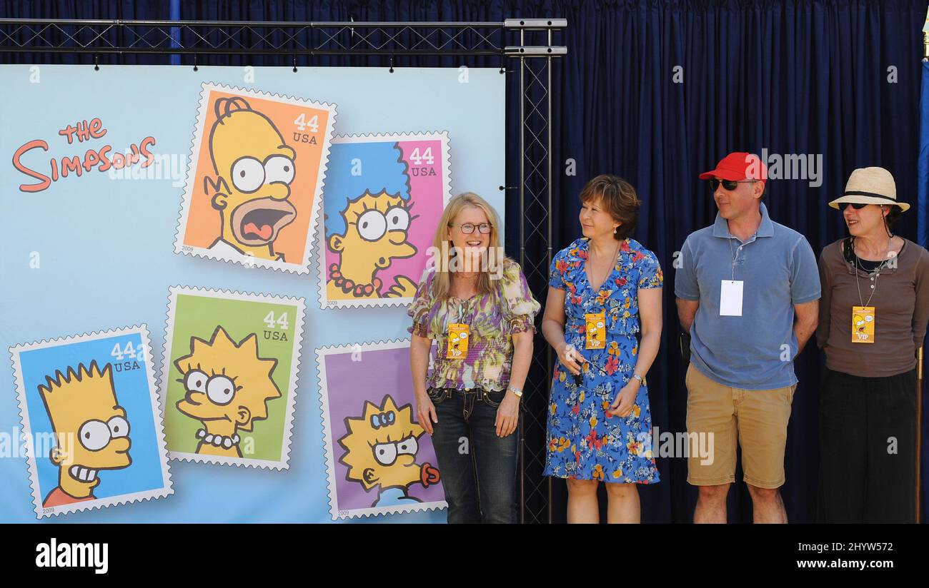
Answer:
<path fill-rule="evenodd" d="M 321 311 L 318 260 L 307 275 L 246 268 L 173 252 L 182 180 L 200 84 L 228 83 L 337 105 L 336 134 L 448 131 L 454 193 L 474 191 L 503 216 L 504 75 L 457 69 L 104 66 L 0 67 L 0 434 L 20 427 L 7 347 L 119 326 L 149 326 L 161 365 L 171 285 L 267 292 L 307 299 L 290 469 L 171 462 L 175 494 L 155 501 L 56 517 L 54 522 L 324 522 L 325 484 L 314 350 L 408 337 L 405 308 Z M 107 134 L 67 145 L 58 131 L 99 118 Z M 153 151 L 177 154 L 178 181 L 112 179 L 94 169 L 24 193 L 35 180 L 13 153 L 33 139 L 49 150 L 24 156 L 48 174 L 48 160 L 83 157 L 88 147 L 122 151 L 146 136 Z M 177 158 L 176 158 L 177 160 Z M 33 265 L 38 264 L 38 267 Z M 354 519 L 442 521 L 444 511 Z M 0 457 L 0 521 L 34 521 L 26 461 Z"/>

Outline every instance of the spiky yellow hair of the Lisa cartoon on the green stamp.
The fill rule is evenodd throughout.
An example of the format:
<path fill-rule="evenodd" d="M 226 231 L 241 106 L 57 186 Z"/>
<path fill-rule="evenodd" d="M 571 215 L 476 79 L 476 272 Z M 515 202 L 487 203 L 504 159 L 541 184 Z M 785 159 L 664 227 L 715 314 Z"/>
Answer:
<path fill-rule="evenodd" d="M 281 390 L 272 377 L 278 360 L 258 356 L 258 336 L 250 333 L 236 343 L 222 326 L 216 326 L 210 340 L 190 338 L 190 354 L 178 357 L 175 366 L 181 374 L 202 369 L 209 376 L 235 372 L 236 390 L 254 401 L 250 406 L 252 422 L 241 425 L 252 430 L 256 420 L 268 418 L 268 401 L 281 397 Z"/>

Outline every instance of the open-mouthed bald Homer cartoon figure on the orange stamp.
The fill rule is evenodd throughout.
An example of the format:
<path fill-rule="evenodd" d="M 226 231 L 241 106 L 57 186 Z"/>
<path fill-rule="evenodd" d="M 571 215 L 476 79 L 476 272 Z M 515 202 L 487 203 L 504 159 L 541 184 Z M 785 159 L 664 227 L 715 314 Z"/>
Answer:
<path fill-rule="evenodd" d="M 210 249 L 284 262 L 274 241 L 296 218 L 288 200 L 296 151 L 244 98 L 217 98 L 214 108 L 209 145 L 216 177 L 203 177 L 203 191 L 219 211 L 220 227 Z"/>

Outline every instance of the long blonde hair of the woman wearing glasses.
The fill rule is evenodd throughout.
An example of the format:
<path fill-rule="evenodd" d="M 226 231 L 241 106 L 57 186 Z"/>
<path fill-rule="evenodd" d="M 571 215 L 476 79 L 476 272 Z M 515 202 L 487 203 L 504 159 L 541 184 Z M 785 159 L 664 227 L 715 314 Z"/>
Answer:
<path fill-rule="evenodd" d="M 497 211 L 493 210 L 493 207 L 487 200 L 480 198 L 473 192 L 462 192 L 454 198 L 451 198 L 448 206 L 445 207 L 445 211 L 442 212 L 442 218 L 438 221 L 436 238 L 432 244 L 433 248 L 435 248 L 433 250 L 438 258 L 436 260 L 436 275 L 432 280 L 432 295 L 436 300 L 446 300 L 449 297 L 449 290 L 451 289 L 451 273 L 449 272 L 449 267 L 455 251 L 451 244 L 451 239 L 448 236 L 448 231 L 455 217 L 468 207 L 478 208 L 484 211 L 484 214 L 487 215 L 487 222 L 491 224 L 490 240 L 487 246 L 488 255 L 491 254 L 491 251 L 500 249 L 500 218 L 497 216 Z M 475 230 L 478 230 L 477 227 Z M 480 268 L 480 275 L 478 276 L 478 292 L 481 294 L 491 294 L 495 292 L 497 288 L 491 285 L 489 265 L 482 265 L 483 267 Z"/>

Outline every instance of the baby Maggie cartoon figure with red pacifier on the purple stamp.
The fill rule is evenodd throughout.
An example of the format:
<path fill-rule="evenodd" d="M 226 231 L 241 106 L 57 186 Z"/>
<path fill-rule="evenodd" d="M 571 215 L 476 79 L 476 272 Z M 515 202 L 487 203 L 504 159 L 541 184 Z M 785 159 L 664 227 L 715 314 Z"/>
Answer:
<path fill-rule="evenodd" d="M 412 421 L 411 404 L 398 408 L 388 394 L 380 406 L 365 402 L 362 415 L 345 422 L 347 433 L 339 444 L 346 453 L 339 461 L 348 467 L 348 480 L 360 482 L 365 491 L 379 489 L 372 506 L 418 503 L 409 488 L 438 483 L 438 469 L 416 463 L 417 440 L 425 429 Z"/>

